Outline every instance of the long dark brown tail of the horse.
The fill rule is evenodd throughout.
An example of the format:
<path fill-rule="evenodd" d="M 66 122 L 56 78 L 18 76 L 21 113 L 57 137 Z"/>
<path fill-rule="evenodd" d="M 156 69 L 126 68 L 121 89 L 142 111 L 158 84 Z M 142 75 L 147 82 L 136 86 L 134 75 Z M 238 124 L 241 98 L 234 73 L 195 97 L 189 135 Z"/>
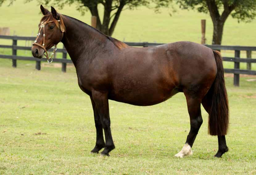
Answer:
<path fill-rule="evenodd" d="M 224 136 L 228 131 L 229 102 L 225 87 L 221 53 L 213 50 L 217 64 L 217 76 L 212 85 L 212 105 L 209 113 L 208 133 Z"/>

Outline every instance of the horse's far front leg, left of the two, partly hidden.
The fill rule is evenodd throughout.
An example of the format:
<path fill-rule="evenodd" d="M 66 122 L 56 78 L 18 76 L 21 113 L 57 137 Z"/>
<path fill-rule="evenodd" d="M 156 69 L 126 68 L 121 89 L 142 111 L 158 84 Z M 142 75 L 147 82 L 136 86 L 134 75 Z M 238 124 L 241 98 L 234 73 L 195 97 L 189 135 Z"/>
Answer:
<path fill-rule="evenodd" d="M 94 122 L 95 122 L 95 128 L 96 128 L 96 144 L 91 153 L 99 153 L 99 151 L 105 147 L 105 142 L 103 138 L 103 128 L 101 124 L 100 115 L 98 112 L 98 109 L 96 107 L 96 104 L 93 100 L 93 97 L 90 96 L 92 106 L 93 106 L 93 115 L 94 115 Z"/>

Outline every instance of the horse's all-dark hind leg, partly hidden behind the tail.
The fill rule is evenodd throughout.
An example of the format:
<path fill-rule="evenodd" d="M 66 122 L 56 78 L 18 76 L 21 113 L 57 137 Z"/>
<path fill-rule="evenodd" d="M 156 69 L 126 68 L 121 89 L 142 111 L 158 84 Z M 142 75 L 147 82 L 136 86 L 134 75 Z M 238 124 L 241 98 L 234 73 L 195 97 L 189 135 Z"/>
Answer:
<path fill-rule="evenodd" d="M 211 112 L 212 107 L 212 88 L 209 90 L 209 92 L 204 96 L 202 99 L 202 105 L 208 114 Z M 226 138 L 224 136 L 218 136 L 218 152 L 215 154 L 215 157 L 221 157 L 224 153 L 228 152 L 228 147 L 226 144 Z"/>

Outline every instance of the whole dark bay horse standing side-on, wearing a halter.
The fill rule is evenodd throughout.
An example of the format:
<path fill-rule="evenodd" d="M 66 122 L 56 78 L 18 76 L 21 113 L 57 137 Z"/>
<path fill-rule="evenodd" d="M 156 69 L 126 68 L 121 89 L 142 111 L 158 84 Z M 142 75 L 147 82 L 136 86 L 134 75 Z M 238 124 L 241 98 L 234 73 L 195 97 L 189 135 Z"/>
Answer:
<path fill-rule="evenodd" d="M 44 16 L 39 26 L 43 30 L 33 44 L 32 54 L 42 58 L 52 46 L 64 44 L 75 65 L 78 85 L 92 102 L 96 127 L 92 153 L 104 148 L 101 154 L 109 156 L 115 148 L 108 100 L 148 106 L 178 92 L 183 92 L 187 100 L 190 132 L 175 156 L 192 154 L 191 147 L 203 122 L 200 104 L 209 113 L 209 134 L 218 136 L 215 156 L 221 157 L 228 151 L 225 135 L 229 107 L 218 51 L 192 42 L 130 47 L 77 19 L 57 13 L 53 7 L 51 12 L 42 5 L 40 8 Z"/>

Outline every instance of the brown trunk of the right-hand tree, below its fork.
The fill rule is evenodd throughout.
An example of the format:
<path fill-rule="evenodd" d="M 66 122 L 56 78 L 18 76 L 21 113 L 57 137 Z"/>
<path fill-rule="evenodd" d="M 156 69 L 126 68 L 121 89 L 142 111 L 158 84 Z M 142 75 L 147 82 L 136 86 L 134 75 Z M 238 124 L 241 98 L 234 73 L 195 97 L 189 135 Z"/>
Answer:
<path fill-rule="evenodd" d="M 219 21 L 219 20 L 216 22 L 213 22 L 213 42 L 212 42 L 212 44 L 221 45 L 223 27 L 224 27 L 224 22 Z"/>

